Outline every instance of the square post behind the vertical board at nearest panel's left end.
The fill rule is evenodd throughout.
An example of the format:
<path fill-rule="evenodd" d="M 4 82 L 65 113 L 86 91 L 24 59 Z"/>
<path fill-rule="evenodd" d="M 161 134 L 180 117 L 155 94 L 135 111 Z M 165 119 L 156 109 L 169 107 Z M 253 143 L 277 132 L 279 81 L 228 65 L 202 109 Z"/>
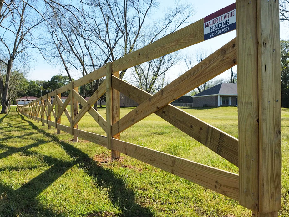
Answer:
<path fill-rule="evenodd" d="M 119 72 L 115 72 L 112 75 L 119 78 Z M 119 121 L 120 116 L 120 94 L 119 91 L 112 88 L 112 124 Z M 116 134 L 113 138 L 120 139 L 120 133 Z M 119 159 L 120 152 L 111 149 L 111 158 L 112 159 Z"/>

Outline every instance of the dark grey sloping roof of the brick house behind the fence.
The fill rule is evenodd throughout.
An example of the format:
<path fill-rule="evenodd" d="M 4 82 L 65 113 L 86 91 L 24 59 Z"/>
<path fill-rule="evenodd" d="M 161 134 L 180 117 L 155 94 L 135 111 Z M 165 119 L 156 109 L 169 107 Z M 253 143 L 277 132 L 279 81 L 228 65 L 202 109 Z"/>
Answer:
<path fill-rule="evenodd" d="M 221 83 L 215 85 L 203 92 L 200 92 L 193 97 L 197 96 L 207 96 L 207 95 L 238 95 L 237 94 L 237 84 L 235 83 Z"/>

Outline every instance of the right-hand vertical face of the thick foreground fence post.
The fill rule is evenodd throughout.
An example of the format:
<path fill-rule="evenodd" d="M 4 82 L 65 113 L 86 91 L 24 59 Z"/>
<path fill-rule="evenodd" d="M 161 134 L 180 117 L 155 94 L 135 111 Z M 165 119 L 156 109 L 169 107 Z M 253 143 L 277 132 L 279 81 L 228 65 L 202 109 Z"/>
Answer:
<path fill-rule="evenodd" d="M 281 60 L 279 2 L 257 1 L 259 212 L 281 209 Z M 277 216 L 277 215 L 276 215 Z"/>

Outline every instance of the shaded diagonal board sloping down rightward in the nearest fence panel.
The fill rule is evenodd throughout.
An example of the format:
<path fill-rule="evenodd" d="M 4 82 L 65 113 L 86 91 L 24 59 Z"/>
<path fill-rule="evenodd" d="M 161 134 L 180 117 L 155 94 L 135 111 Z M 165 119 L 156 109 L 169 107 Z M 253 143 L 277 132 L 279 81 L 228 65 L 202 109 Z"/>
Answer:
<path fill-rule="evenodd" d="M 139 104 L 152 96 L 114 76 L 112 87 Z M 235 137 L 170 104 L 155 114 L 238 166 L 238 139 Z"/>

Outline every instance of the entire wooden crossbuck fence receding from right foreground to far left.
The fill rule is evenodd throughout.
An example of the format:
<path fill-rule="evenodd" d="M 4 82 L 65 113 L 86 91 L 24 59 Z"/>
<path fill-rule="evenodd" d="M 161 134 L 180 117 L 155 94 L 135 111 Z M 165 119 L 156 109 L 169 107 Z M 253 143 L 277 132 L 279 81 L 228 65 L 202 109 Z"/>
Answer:
<path fill-rule="evenodd" d="M 236 1 L 237 37 L 151 95 L 119 79 L 119 71 L 204 41 L 204 19 L 169 34 L 131 54 L 38 98 L 18 110 L 25 116 L 136 158 L 190 180 L 252 210 L 253 216 L 277 216 L 281 209 L 281 87 L 279 3 Z M 175 106 L 172 101 L 230 69 L 238 62 L 239 140 Z M 106 77 L 86 101 L 81 85 Z M 61 93 L 69 91 L 66 101 Z M 106 92 L 106 120 L 92 106 Z M 119 93 L 139 103 L 119 118 Z M 51 104 L 50 97 L 56 100 Z M 71 102 L 70 111 L 66 108 Z M 78 111 L 78 103 L 83 107 Z M 70 127 L 61 124 L 65 113 Z M 106 136 L 78 129 L 88 112 Z M 168 121 L 239 167 L 239 174 L 209 167 L 120 140 L 120 133 L 150 114 Z M 51 121 L 51 114 L 55 122 Z"/>

